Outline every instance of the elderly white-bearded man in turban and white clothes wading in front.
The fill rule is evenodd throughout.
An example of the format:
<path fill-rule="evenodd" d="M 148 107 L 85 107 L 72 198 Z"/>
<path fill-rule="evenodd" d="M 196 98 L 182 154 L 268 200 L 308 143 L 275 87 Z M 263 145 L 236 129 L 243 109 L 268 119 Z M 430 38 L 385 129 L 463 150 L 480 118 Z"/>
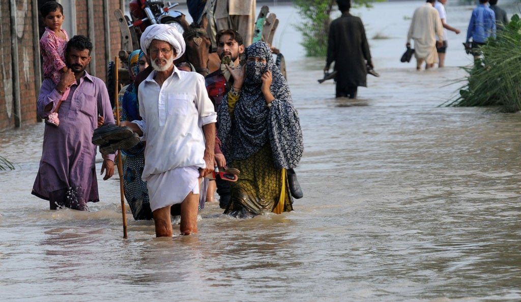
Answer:
<path fill-rule="evenodd" d="M 197 232 L 201 178 L 214 170 L 217 115 L 203 76 L 173 64 L 185 49 L 175 27 L 147 27 L 141 49 L 154 70 L 139 85 L 142 120 L 125 125 L 146 141 L 142 178 L 150 194 L 156 236 L 172 236 L 170 207 L 174 204 L 181 204 L 181 234 L 189 235 Z"/>

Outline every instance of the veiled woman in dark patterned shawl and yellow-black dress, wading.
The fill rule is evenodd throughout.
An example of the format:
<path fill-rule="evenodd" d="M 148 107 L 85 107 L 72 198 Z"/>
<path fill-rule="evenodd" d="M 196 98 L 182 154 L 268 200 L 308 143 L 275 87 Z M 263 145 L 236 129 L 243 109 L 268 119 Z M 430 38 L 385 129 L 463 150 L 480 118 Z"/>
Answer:
<path fill-rule="evenodd" d="M 286 169 L 298 165 L 304 144 L 288 84 L 265 42 L 247 47 L 245 68 L 227 68 L 234 82 L 217 109 L 217 136 L 241 174 L 225 214 L 292 211 Z"/>

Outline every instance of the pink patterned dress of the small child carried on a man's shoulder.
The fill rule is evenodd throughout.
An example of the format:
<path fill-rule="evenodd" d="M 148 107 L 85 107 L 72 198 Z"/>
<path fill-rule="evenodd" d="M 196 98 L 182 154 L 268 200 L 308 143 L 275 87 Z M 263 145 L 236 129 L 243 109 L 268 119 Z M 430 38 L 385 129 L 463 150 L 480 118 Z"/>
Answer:
<path fill-rule="evenodd" d="M 65 40 L 58 37 L 48 27 L 40 39 L 40 52 L 43 57 L 43 77 L 51 78 L 58 84 L 61 78 L 61 69 L 65 65 L 65 46 L 69 41 L 69 36 L 64 29 L 60 29 L 65 34 Z"/>

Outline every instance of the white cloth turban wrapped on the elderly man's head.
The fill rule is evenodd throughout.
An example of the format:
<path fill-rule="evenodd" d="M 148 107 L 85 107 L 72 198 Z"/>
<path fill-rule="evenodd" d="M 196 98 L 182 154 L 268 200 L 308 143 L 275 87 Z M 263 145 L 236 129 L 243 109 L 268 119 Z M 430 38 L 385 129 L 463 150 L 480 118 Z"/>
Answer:
<path fill-rule="evenodd" d="M 141 50 L 148 55 L 147 48 L 150 47 L 152 40 L 160 40 L 168 42 L 176 50 L 177 56 L 174 60 L 180 58 L 184 54 L 185 44 L 183 35 L 177 28 L 170 24 L 152 24 L 148 26 L 141 34 L 140 44 Z"/>

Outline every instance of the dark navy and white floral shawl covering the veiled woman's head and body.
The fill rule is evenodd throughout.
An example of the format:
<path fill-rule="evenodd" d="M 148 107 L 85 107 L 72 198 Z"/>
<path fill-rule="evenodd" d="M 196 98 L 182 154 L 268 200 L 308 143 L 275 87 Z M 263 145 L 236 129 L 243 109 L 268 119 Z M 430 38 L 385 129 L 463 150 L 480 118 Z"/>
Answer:
<path fill-rule="evenodd" d="M 299 115 L 293 107 L 291 93 L 284 76 L 265 42 L 255 42 L 246 49 L 246 57 L 266 59 L 266 63 L 247 61 L 244 84 L 233 118 L 228 109 L 227 96 L 217 109 L 217 136 L 227 160 L 245 159 L 269 143 L 277 168 L 294 168 L 304 151 Z M 271 71 L 270 91 L 275 100 L 271 107 L 261 91 L 261 76 Z"/>

